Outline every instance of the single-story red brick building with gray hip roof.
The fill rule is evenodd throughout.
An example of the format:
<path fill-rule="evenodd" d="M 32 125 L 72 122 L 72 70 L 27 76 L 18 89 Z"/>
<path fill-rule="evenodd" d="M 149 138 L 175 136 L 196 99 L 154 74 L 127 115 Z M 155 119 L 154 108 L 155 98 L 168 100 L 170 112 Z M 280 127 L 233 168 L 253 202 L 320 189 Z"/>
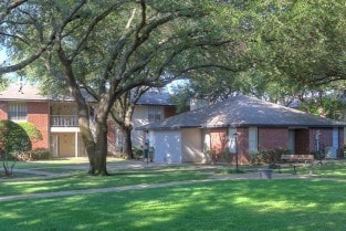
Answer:
<path fill-rule="evenodd" d="M 138 129 L 148 134 L 157 162 L 202 162 L 222 154 L 241 164 L 260 150 L 311 154 L 318 148 L 336 158 L 344 148 L 345 123 L 247 96 L 172 116 Z"/>

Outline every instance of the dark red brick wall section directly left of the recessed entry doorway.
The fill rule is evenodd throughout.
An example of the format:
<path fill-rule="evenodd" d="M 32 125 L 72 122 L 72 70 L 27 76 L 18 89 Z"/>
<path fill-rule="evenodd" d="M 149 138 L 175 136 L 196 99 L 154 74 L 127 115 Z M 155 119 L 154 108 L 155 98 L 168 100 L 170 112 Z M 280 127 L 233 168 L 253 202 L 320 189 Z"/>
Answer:
<path fill-rule="evenodd" d="M 259 150 L 289 149 L 287 128 L 259 127 Z"/>

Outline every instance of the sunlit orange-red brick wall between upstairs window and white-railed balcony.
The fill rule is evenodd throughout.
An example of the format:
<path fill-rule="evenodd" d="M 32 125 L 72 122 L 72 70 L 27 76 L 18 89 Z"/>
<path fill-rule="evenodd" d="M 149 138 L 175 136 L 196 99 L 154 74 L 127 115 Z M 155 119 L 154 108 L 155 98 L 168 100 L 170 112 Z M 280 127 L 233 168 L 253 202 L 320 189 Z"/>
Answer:
<path fill-rule="evenodd" d="M 28 102 L 28 122 L 36 126 L 42 133 L 43 140 L 32 143 L 32 149 L 50 148 L 50 105 L 45 102 Z"/>

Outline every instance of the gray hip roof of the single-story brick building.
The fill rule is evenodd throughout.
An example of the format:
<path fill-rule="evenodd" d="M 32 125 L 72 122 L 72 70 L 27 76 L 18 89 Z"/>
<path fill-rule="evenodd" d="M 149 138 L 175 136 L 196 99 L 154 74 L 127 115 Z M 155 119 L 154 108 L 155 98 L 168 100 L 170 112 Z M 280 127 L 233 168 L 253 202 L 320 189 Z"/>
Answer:
<path fill-rule="evenodd" d="M 247 126 L 340 127 L 346 126 L 346 123 L 311 115 L 253 97 L 235 96 L 137 129 Z"/>

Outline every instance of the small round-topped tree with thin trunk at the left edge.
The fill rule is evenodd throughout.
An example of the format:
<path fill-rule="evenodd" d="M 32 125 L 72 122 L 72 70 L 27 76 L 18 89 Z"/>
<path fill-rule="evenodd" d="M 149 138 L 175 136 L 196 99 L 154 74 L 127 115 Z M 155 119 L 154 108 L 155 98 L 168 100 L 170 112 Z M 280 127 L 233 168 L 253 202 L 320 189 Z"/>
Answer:
<path fill-rule="evenodd" d="M 17 155 L 31 149 L 27 132 L 11 120 L 0 120 L 0 160 L 6 176 L 11 176 Z"/>

